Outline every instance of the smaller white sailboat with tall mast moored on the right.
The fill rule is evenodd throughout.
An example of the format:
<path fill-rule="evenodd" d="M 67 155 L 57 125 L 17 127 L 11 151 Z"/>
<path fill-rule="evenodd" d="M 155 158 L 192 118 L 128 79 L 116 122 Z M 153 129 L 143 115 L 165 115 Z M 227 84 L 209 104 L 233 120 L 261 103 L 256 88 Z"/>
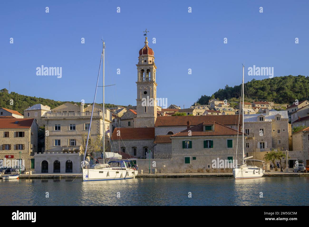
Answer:
<path fill-rule="evenodd" d="M 242 85 L 242 101 L 244 105 L 244 65 L 243 65 L 243 85 Z M 242 109 L 243 109 L 242 105 Z M 240 113 L 239 113 L 240 114 Z M 242 111 L 243 114 L 243 111 Z M 244 127 L 244 125 L 243 125 Z M 243 132 L 244 130 L 242 130 Z M 235 179 L 250 179 L 250 178 L 260 178 L 264 175 L 264 166 L 265 162 L 262 160 L 251 159 L 253 156 L 245 158 L 245 151 L 244 151 L 244 133 L 243 134 L 243 158 L 242 164 L 235 166 L 233 168 L 233 175 Z M 236 159 L 237 159 L 237 148 L 236 148 Z M 256 166 L 256 162 L 261 162 L 262 166 Z M 251 164 L 250 164 L 251 163 Z"/>

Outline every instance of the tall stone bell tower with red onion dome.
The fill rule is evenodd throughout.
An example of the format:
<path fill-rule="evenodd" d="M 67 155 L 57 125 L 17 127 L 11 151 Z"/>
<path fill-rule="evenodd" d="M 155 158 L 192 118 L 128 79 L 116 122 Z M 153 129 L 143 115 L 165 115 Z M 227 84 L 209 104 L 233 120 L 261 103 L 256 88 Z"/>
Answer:
<path fill-rule="evenodd" d="M 153 127 L 157 118 L 157 83 L 155 82 L 154 51 L 145 46 L 140 49 L 137 66 L 137 117 L 134 127 Z"/>

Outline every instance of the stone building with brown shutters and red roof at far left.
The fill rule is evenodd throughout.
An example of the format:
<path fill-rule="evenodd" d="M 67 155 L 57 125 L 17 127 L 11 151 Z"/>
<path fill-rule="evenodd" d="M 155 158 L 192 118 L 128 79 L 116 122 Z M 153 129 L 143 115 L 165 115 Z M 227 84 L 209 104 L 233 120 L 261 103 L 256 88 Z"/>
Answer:
<path fill-rule="evenodd" d="M 0 161 L 3 165 L 19 162 L 25 170 L 34 169 L 37 139 L 38 126 L 33 118 L 0 118 Z"/>

